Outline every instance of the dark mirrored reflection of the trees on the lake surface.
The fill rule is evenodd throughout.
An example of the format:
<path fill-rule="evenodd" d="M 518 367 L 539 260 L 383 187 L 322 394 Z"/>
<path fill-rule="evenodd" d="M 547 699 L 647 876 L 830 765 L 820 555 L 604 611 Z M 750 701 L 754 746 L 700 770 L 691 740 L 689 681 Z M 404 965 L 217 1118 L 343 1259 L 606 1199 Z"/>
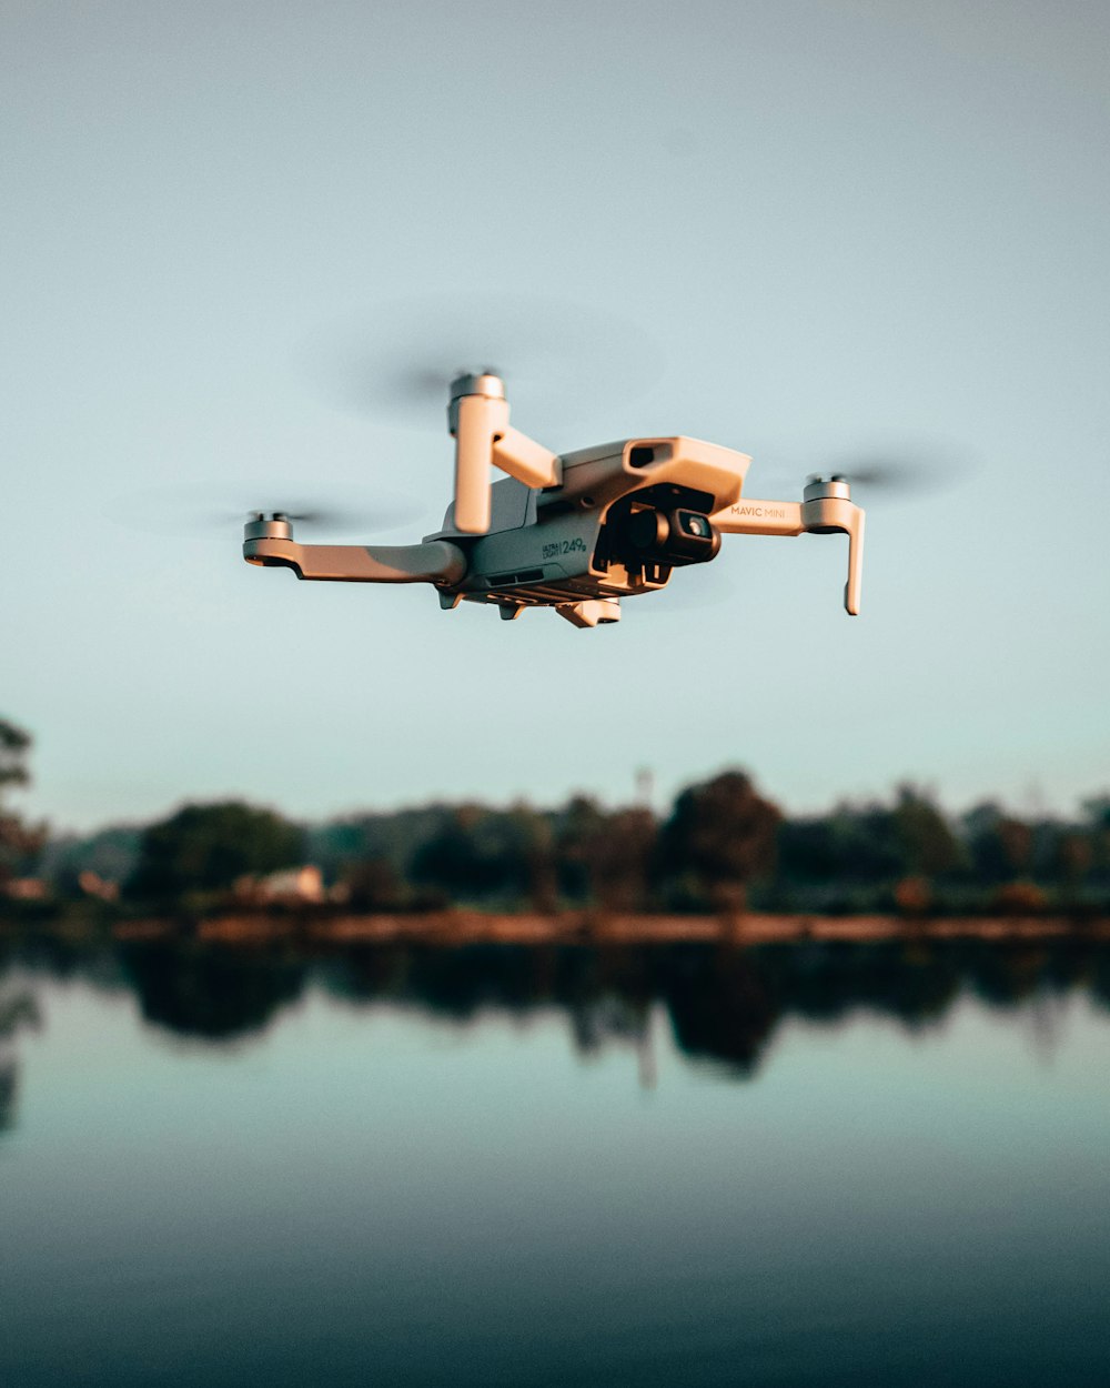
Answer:
<path fill-rule="evenodd" d="M 962 997 L 1018 1008 L 1081 990 L 1110 1008 L 1110 945 L 905 940 L 882 944 L 358 945 L 189 941 L 78 945 L 42 937 L 8 947 L 0 977 L 82 977 L 128 990 L 151 1026 L 228 1042 L 265 1033 L 309 990 L 354 1006 L 415 1008 L 455 1026 L 495 1012 L 561 1012 L 581 1056 L 610 1044 L 642 1052 L 662 1006 L 691 1060 L 755 1074 L 784 1019 L 838 1024 L 860 1009 L 907 1030 L 941 1023 Z M 35 1022 L 26 984 L 0 985 L 0 1126 L 17 1088 L 14 1037 Z"/>

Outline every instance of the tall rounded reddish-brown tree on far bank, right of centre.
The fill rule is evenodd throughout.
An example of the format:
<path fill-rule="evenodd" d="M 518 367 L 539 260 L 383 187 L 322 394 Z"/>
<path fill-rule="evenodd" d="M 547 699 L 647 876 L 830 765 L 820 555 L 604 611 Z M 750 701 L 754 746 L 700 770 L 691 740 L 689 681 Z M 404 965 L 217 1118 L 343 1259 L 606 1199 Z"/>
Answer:
<path fill-rule="evenodd" d="M 688 786 L 663 826 L 665 867 L 710 905 L 742 906 L 748 884 L 774 869 L 781 818 L 778 806 L 763 799 L 744 772 L 723 772 Z"/>

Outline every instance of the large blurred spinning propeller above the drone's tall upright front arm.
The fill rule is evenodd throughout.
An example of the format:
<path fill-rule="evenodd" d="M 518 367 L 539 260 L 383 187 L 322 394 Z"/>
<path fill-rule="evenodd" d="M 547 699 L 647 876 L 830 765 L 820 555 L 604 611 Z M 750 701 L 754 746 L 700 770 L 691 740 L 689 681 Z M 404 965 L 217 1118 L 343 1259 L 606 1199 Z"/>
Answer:
<path fill-rule="evenodd" d="M 591 304 L 534 294 L 412 294 L 336 323 L 298 353 L 334 405 L 441 430 L 463 372 L 506 380 L 529 433 L 565 430 L 642 396 L 663 373 L 652 335 Z"/>

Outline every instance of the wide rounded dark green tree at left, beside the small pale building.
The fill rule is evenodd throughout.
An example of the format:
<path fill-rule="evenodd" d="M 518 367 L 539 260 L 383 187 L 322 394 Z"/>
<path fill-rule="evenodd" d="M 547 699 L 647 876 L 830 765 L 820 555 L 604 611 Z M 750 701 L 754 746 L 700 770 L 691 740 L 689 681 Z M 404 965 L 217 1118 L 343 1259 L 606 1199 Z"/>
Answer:
<path fill-rule="evenodd" d="M 246 873 L 269 873 L 304 861 L 304 833 L 272 809 L 243 801 L 185 805 L 151 824 L 139 845 L 128 891 L 151 901 L 221 891 Z"/>

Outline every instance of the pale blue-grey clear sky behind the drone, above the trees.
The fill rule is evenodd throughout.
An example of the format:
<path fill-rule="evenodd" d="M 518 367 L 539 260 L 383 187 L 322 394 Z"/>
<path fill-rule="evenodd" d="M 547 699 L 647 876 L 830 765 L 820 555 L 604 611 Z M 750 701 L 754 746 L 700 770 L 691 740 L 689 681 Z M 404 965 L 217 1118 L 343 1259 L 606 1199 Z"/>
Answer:
<path fill-rule="evenodd" d="M 1107 53 L 1095 0 L 0 0 L 19 808 L 617 804 L 644 768 L 662 806 L 723 766 L 795 812 L 1104 791 Z M 692 434 L 758 496 L 882 450 L 955 482 L 859 490 L 856 619 L 842 537 L 730 537 L 691 601 L 579 632 L 251 568 L 234 515 L 136 522 L 272 486 L 436 529 L 441 408 L 355 411 L 321 364 L 461 300 L 493 333 L 537 305 L 556 365 L 586 325 L 513 409 L 555 450 Z"/>

